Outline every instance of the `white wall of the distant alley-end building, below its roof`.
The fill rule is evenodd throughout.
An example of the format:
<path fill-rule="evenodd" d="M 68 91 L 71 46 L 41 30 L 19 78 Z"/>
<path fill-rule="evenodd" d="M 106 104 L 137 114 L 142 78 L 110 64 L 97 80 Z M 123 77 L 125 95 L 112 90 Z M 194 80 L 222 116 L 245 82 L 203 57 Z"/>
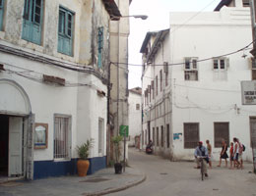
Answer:
<path fill-rule="evenodd" d="M 142 130 L 142 110 L 141 110 L 141 95 L 129 91 L 129 145 L 135 145 L 135 136 L 139 136 Z M 140 109 L 136 109 L 136 105 L 140 105 Z"/>

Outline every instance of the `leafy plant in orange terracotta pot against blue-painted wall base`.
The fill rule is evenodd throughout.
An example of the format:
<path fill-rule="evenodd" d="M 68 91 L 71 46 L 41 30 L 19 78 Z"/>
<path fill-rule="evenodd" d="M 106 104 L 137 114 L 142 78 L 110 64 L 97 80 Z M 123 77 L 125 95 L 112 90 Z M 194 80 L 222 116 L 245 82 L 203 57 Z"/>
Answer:
<path fill-rule="evenodd" d="M 77 146 L 77 153 L 79 160 L 77 162 L 78 175 L 86 176 L 90 167 L 90 162 L 88 160 L 89 151 L 94 147 L 94 139 L 88 139 L 86 143 L 81 146 Z"/>

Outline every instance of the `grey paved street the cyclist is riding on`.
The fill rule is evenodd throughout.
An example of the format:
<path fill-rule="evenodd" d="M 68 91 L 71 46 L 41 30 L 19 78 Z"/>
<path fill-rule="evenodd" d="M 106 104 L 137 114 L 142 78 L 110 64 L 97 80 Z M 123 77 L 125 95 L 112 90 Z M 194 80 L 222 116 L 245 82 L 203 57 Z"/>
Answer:
<path fill-rule="evenodd" d="M 154 195 L 154 196 L 256 196 L 256 175 L 251 173 L 252 164 L 245 164 L 242 171 L 214 168 L 209 177 L 201 181 L 200 171 L 193 169 L 192 162 L 169 162 L 154 155 L 146 155 L 135 149 L 129 149 L 129 161 L 147 174 L 147 179 L 138 186 L 111 196 Z"/>

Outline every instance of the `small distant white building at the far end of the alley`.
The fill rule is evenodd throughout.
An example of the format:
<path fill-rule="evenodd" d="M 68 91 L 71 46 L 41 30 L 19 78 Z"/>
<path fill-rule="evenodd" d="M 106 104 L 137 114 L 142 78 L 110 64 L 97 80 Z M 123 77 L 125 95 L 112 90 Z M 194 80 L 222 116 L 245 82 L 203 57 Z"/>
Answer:
<path fill-rule="evenodd" d="M 142 88 L 129 89 L 129 146 L 140 148 L 140 135 L 142 132 Z"/>

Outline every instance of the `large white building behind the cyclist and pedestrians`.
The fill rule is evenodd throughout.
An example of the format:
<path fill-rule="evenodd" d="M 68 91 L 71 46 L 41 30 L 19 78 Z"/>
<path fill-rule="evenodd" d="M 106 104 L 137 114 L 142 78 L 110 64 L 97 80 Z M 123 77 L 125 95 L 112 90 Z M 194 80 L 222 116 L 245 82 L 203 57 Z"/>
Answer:
<path fill-rule="evenodd" d="M 245 48 L 252 43 L 247 6 L 222 1 L 215 12 L 170 13 L 169 29 L 147 33 L 141 48 L 144 145 L 153 139 L 158 154 L 190 160 L 197 142 L 209 139 L 218 160 L 221 140 L 238 137 L 247 147 L 244 159 L 252 160 L 256 107 L 241 102 L 241 81 L 255 79 Z"/>

